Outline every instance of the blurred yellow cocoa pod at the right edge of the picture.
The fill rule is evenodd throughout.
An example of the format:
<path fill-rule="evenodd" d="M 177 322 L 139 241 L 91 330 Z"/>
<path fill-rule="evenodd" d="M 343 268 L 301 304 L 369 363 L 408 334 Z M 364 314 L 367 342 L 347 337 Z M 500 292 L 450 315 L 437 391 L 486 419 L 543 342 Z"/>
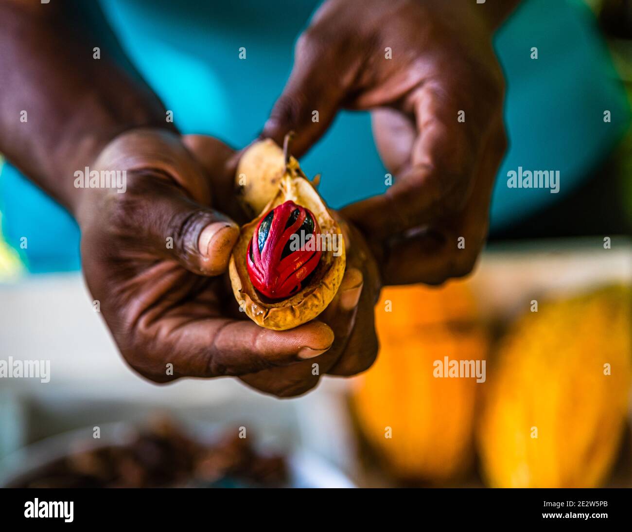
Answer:
<path fill-rule="evenodd" d="M 624 432 L 631 377 L 630 292 L 608 287 L 540 301 L 507 332 L 477 441 L 492 487 L 594 488 Z"/>

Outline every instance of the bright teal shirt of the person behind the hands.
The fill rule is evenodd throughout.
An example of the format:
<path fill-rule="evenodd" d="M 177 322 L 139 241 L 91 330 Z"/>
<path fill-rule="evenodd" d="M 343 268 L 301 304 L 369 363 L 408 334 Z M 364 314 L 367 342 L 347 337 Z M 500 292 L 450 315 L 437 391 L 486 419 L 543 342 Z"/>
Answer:
<path fill-rule="evenodd" d="M 208 133 L 241 147 L 258 135 L 283 90 L 296 37 L 316 0 L 102 0 L 145 80 L 183 133 Z M 246 59 L 239 58 L 240 47 Z M 538 58 L 532 59 L 532 47 Z M 581 184 L 629 125 L 629 107 L 592 13 L 580 0 L 526 0 L 497 32 L 507 79 L 510 147 L 499 171 L 491 227 L 507 228 Z M 611 123 L 604 123 L 604 111 Z M 341 112 L 302 160 L 322 174 L 334 208 L 382 193 L 386 169 L 367 112 Z M 560 191 L 507 187 L 507 172 L 559 170 Z M 0 176 L 3 232 L 33 272 L 80 267 L 79 232 L 64 212 L 13 167 Z"/>

